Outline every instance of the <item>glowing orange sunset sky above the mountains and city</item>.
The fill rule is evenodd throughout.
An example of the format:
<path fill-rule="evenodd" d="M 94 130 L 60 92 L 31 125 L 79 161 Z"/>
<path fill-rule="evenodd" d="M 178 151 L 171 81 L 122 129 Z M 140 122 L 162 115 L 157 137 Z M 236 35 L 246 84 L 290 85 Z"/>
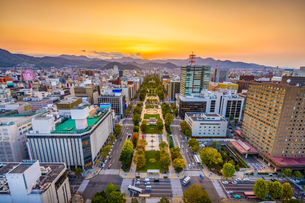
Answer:
<path fill-rule="evenodd" d="M 305 65 L 305 1 L 0 0 L 0 48 L 34 56 Z"/>

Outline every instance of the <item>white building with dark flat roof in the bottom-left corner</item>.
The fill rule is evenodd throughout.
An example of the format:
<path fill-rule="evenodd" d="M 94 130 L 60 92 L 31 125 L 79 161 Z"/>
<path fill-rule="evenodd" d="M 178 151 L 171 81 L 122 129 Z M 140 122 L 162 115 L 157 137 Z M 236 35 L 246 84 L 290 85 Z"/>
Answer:
<path fill-rule="evenodd" d="M 1 163 L 3 181 L 0 200 L 5 203 L 68 203 L 71 199 L 67 167 L 64 163 Z"/>

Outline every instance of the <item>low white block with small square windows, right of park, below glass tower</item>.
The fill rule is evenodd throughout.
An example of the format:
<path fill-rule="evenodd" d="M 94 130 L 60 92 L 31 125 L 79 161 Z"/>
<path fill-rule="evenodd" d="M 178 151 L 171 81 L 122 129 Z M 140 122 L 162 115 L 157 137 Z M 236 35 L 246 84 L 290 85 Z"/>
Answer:
<path fill-rule="evenodd" d="M 191 128 L 192 137 L 226 137 L 228 121 L 219 114 L 185 113 L 185 121 Z"/>

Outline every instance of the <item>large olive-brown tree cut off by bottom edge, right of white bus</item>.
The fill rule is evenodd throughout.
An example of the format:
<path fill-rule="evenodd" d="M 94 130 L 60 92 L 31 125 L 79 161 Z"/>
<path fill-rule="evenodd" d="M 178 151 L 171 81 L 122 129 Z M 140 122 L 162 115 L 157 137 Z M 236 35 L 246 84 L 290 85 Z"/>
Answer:
<path fill-rule="evenodd" d="M 200 185 L 192 184 L 183 192 L 182 200 L 185 203 L 212 203 L 206 191 Z"/>

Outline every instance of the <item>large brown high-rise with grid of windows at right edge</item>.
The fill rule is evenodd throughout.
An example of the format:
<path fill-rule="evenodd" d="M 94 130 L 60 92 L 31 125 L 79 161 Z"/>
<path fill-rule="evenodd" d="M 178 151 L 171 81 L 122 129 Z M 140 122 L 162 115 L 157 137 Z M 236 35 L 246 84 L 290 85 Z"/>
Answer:
<path fill-rule="evenodd" d="M 249 83 L 241 136 L 277 169 L 305 168 L 305 86 Z"/>

